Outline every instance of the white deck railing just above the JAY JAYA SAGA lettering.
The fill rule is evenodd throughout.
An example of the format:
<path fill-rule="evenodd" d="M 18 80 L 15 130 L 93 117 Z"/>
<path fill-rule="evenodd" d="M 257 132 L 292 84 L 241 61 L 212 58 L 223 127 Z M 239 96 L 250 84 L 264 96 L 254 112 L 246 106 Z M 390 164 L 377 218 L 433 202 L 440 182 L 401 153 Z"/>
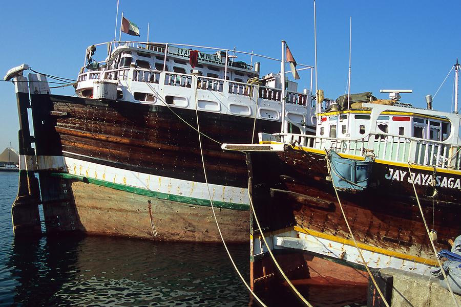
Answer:
<path fill-rule="evenodd" d="M 461 170 L 461 145 L 390 134 L 371 133 L 361 139 L 339 139 L 301 134 L 275 134 L 287 144 L 334 149 L 347 155 L 371 152 L 375 159 Z"/>

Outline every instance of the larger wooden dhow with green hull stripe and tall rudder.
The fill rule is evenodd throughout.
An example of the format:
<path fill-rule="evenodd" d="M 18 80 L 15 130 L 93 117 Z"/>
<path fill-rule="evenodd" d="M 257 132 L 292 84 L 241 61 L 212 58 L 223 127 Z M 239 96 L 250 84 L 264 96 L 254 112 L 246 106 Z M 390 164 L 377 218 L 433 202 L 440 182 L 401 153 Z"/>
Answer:
<path fill-rule="evenodd" d="M 101 43 L 86 51 L 76 97 L 51 94 L 46 74 L 30 71 L 27 79 L 27 64 L 10 70 L 5 80 L 15 84 L 22 158 L 15 234 L 40 233 L 37 206 L 43 204 L 49 234 L 219 242 L 209 187 L 224 238 L 246 242 L 245 156 L 221 144 L 280 130 L 282 77 L 260 75 L 257 59 L 268 69 L 280 64 L 211 47 Z M 298 83 L 287 82 L 284 116 L 291 129 L 313 134 L 312 81 L 305 84 L 300 92 Z"/>

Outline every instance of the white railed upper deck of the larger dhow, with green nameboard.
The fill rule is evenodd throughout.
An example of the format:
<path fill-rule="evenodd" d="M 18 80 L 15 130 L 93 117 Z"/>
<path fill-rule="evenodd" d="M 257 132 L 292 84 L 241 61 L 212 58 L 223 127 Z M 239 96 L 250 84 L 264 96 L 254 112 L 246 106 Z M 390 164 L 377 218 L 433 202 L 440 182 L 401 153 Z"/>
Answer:
<path fill-rule="evenodd" d="M 105 49 L 103 46 L 109 56 L 94 60 L 94 51 Z M 198 52 L 195 67 L 190 61 L 193 49 L 207 50 Z M 155 42 L 102 43 L 87 49 L 76 93 L 93 98 L 95 82 L 116 81 L 119 101 L 183 108 L 197 104 L 203 111 L 280 121 L 281 76 L 261 77 L 262 64 L 256 60 L 268 62 L 268 69 L 280 70 L 279 59 L 236 50 Z M 310 71 L 310 80 L 304 81 L 306 88 L 301 91 L 298 83 L 287 82 L 286 117 L 303 131 L 304 126 L 314 124 L 315 102 L 312 67 L 298 65 Z"/>

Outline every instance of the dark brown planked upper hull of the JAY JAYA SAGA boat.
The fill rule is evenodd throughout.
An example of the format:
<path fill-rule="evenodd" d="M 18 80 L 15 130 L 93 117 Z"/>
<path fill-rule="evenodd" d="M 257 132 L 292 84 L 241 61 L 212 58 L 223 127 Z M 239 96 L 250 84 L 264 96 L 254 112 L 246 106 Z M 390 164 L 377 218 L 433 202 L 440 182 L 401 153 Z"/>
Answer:
<path fill-rule="evenodd" d="M 327 180 L 324 154 L 288 148 L 282 152 L 249 152 L 247 157 L 253 203 L 265 232 L 296 228 L 353 246 L 332 183 Z M 395 171 L 399 171 L 399 175 L 392 176 Z M 428 227 L 437 231 L 436 249 L 451 248 L 449 240 L 461 234 L 459 174 L 439 169 L 434 174 L 433 169 L 423 167 L 412 168 L 411 172 L 414 172 L 412 176 Z M 431 197 L 434 187 L 428 183 L 430 176 L 437 190 L 434 197 Z M 405 165 L 376 161 L 365 191 L 340 191 L 339 197 L 355 239 L 370 251 L 384 251 L 390 257 L 416 262 L 430 259 L 428 263 L 434 263 L 434 253 L 408 178 Z M 259 235 L 256 226 L 253 233 Z M 312 255 L 325 256 L 310 253 Z M 346 261 L 331 262 L 331 266 L 338 267 L 338 263 L 350 266 Z M 388 265 L 378 261 L 373 266 Z M 254 279 L 261 278 L 258 276 L 262 274 L 261 260 L 256 258 L 253 266 Z M 338 279 L 354 280 L 352 271 L 339 268 Z"/>

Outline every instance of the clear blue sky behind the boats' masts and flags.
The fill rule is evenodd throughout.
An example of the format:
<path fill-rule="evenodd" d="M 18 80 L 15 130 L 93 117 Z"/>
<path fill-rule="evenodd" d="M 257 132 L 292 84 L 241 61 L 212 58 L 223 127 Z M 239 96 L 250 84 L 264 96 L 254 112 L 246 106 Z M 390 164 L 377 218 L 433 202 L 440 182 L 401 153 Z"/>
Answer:
<path fill-rule="evenodd" d="M 317 5 L 318 81 L 328 98 L 346 90 L 349 17 L 352 17 L 351 93 L 411 89 L 403 102 L 425 107 L 456 57 L 461 57 L 461 1 L 322 1 Z M 140 27 L 140 40 L 182 42 L 280 57 L 286 40 L 300 63 L 314 61 L 312 1 L 128 1 L 124 12 Z M 93 43 L 114 38 L 116 0 L 8 1 L 2 3 L 2 79 L 12 67 L 75 79 Z M 120 18 L 119 18 L 120 20 Z M 118 37 L 118 35 L 117 35 Z M 122 39 L 132 36 L 123 34 Z M 308 87 L 301 85 L 301 88 Z M 72 89 L 54 94 L 73 95 Z M 405 95 L 405 96 L 404 96 Z M 453 74 L 433 107 L 451 111 Z M 12 83 L 0 82 L 0 151 L 17 148 L 17 107 Z"/>

